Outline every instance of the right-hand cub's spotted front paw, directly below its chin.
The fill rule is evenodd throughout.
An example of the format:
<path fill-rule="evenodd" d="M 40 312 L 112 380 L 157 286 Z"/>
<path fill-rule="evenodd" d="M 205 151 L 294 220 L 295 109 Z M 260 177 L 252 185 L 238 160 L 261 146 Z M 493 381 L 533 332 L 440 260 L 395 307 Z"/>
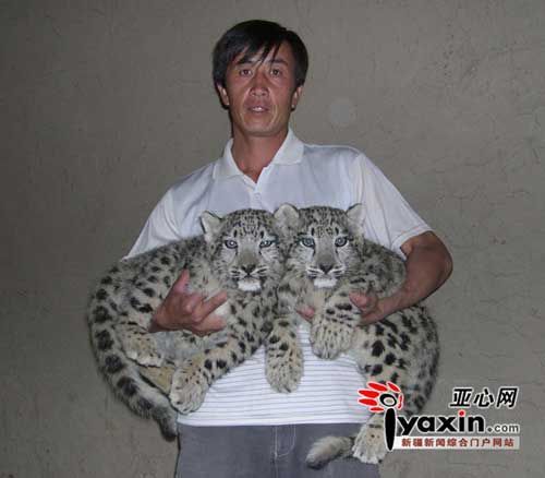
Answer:
<path fill-rule="evenodd" d="M 351 347 L 361 321 L 360 310 L 349 298 L 352 290 L 353 286 L 339 287 L 312 319 L 310 339 L 316 356 L 334 359 Z"/>

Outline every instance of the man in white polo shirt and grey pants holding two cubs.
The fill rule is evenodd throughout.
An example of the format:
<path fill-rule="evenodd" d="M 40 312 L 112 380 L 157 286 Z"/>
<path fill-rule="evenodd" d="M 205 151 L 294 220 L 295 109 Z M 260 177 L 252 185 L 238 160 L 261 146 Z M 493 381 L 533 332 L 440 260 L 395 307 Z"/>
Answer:
<path fill-rule="evenodd" d="M 214 50 L 214 81 L 229 110 L 232 139 L 223 156 L 183 178 L 152 213 L 131 254 L 199 232 L 198 216 L 281 203 L 348 208 L 363 202 L 366 236 L 407 258 L 407 280 L 393 296 L 353 294 L 362 321 L 374 322 L 432 294 L 448 277 L 451 260 L 443 242 L 393 186 L 360 152 L 302 143 L 289 129 L 303 92 L 306 49 L 296 34 L 264 21 L 229 29 Z M 150 331 L 186 328 L 207 334 L 223 326 L 214 310 L 225 292 L 190 294 L 184 272 L 155 312 Z M 312 320 L 313 310 L 300 313 Z M 356 403 L 360 373 L 348 356 L 319 360 L 300 331 L 305 372 L 291 394 L 271 391 L 264 354 L 216 382 L 203 406 L 180 417 L 178 473 L 189 477 L 377 477 L 374 465 L 335 461 L 310 470 L 310 445 L 326 434 L 348 434 L 365 420 Z"/>

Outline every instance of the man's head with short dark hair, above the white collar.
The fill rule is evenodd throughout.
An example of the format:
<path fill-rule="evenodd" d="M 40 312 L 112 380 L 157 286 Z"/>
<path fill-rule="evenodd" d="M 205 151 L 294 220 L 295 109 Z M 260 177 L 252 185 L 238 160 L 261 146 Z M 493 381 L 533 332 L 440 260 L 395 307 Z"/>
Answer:
<path fill-rule="evenodd" d="M 232 134 L 283 141 L 308 57 L 301 38 L 277 23 L 252 20 L 229 29 L 214 49 L 214 81 Z"/>

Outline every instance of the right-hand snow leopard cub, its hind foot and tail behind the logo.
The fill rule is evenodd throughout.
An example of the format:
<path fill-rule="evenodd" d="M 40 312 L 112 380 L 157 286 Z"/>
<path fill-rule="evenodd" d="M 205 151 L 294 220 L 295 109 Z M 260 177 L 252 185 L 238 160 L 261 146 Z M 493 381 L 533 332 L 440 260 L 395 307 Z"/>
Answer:
<path fill-rule="evenodd" d="M 403 414 L 422 409 L 435 383 L 439 358 L 437 328 L 426 308 L 415 304 L 370 325 L 349 294 L 374 290 L 378 297 L 393 294 L 404 280 L 403 261 L 392 251 L 363 237 L 364 207 L 356 204 L 347 212 L 332 207 L 296 210 L 284 204 L 277 211 L 291 240 L 287 244 L 286 273 L 278 288 L 278 310 L 268 337 L 291 352 L 298 348 L 293 330 L 306 323 L 294 313 L 311 306 L 315 315 L 310 324 L 314 354 L 332 359 L 351 354 L 365 380 L 397 384 L 404 394 Z M 293 354 L 292 354 L 293 355 Z M 275 377 L 292 382 L 299 369 L 284 359 Z M 294 375 L 294 377 L 293 377 Z M 364 384 L 364 382 L 362 382 Z M 355 391 L 354 391 L 355 394 Z M 354 397 L 356 399 L 356 397 Z M 378 463 L 387 453 L 384 418 L 373 414 L 355 437 L 327 437 L 311 449 L 306 464 L 320 468 L 339 456 L 354 456 Z"/>

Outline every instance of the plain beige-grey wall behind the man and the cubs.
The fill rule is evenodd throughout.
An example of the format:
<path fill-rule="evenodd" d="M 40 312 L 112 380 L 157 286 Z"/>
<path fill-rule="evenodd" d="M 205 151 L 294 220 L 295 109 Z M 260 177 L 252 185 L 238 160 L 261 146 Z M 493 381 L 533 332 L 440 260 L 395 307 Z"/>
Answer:
<path fill-rule="evenodd" d="M 84 308 L 165 190 L 216 158 L 210 50 L 278 20 L 311 51 L 293 126 L 363 150 L 450 247 L 431 300 L 455 385 L 521 386 L 514 453 L 399 452 L 383 476 L 541 477 L 543 0 L 3 1 L 0 477 L 169 477 L 175 445 L 100 380 Z"/>

